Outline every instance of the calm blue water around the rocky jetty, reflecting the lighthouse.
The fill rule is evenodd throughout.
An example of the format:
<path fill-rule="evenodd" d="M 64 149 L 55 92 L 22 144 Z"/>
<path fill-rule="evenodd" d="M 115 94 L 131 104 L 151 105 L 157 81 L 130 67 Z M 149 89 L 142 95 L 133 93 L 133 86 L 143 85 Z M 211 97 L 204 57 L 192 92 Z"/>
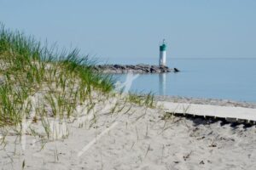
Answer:
<path fill-rule="evenodd" d="M 108 59 L 108 64 L 158 64 L 158 59 Z M 256 59 L 168 59 L 177 73 L 142 74 L 131 92 L 256 102 Z M 125 82 L 127 75 L 113 75 Z"/>

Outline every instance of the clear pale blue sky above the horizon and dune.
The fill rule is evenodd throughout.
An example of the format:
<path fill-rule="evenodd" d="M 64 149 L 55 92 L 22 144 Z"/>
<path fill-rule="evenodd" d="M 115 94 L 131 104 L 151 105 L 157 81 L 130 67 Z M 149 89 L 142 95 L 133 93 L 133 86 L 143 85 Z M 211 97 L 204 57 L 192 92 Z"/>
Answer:
<path fill-rule="evenodd" d="M 255 0 L 0 0 L 0 21 L 98 58 L 256 58 Z"/>

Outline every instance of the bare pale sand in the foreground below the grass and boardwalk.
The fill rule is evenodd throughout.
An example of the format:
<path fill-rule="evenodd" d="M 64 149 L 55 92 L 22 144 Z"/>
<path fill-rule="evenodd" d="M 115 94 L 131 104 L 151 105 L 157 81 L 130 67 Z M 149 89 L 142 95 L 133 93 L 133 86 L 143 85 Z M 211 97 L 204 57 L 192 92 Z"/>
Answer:
<path fill-rule="evenodd" d="M 255 169 L 256 127 L 207 124 L 170 117 L 160 109 L 133 107 L 128 114 L 97 117 L 83 127 L 69 123 L 67 139 L 42 145 L 26 135 L 8 136 L 0 150 L 2 169 Z M 131 113 L 132 111 L 129 111 Z M 114 124 L 113 124 L 114 123 Z M 97 136 L 97 138 L 96 138 Z M 16 139 L 16 141 L 15 141 Z M 35 143 L 36 142 L 36 143 Z M 89 145 L 88 145 L 89 144 Z"/>

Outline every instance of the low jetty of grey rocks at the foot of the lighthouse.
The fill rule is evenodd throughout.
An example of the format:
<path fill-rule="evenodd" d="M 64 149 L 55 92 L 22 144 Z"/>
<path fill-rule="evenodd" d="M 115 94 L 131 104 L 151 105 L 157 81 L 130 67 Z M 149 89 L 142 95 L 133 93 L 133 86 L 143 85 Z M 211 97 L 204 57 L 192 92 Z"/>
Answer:
<path fill-rule="evenodd" d="M 162 72 L 177 72 L 177 68 L 169 68 L 167 66 L 159 65 L 95 65 L 96 71 L 103 73 L 162 73 Z"/>

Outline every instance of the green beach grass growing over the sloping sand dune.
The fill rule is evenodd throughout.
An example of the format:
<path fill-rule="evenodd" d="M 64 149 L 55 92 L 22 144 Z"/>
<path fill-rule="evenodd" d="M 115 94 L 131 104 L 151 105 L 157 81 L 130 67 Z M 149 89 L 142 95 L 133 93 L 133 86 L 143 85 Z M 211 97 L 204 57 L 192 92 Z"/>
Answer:
<path fill-rule="evenodd" d="M 77 48 L 60 52 L 56 46 L 49 48 L 47 43 L 0 24 L 0 134 L 8 135 L 5 128 L 11 127 L 20 136 L 31 134 L 43 141 L 54 139 L 60 133 L 55 129 L 61 127 L 60 138 L 66 138 L 67 122 L 81 118 L 78 122 L 83 125 L 83 116 L 90 115 L 96 105 L 106 106 L 108 99 L 116 101 L 111 114 L 130 112 L 130 104 L 155 106 L 151 93 L 116 92 L 113 78 L 95 71 L 95 64 Z M 95 114 L 92 123 L 96 122 Z M 32 124 L 26 131 L 24 120 L 39 123 L 44 132 L 33 129 Z"/>

